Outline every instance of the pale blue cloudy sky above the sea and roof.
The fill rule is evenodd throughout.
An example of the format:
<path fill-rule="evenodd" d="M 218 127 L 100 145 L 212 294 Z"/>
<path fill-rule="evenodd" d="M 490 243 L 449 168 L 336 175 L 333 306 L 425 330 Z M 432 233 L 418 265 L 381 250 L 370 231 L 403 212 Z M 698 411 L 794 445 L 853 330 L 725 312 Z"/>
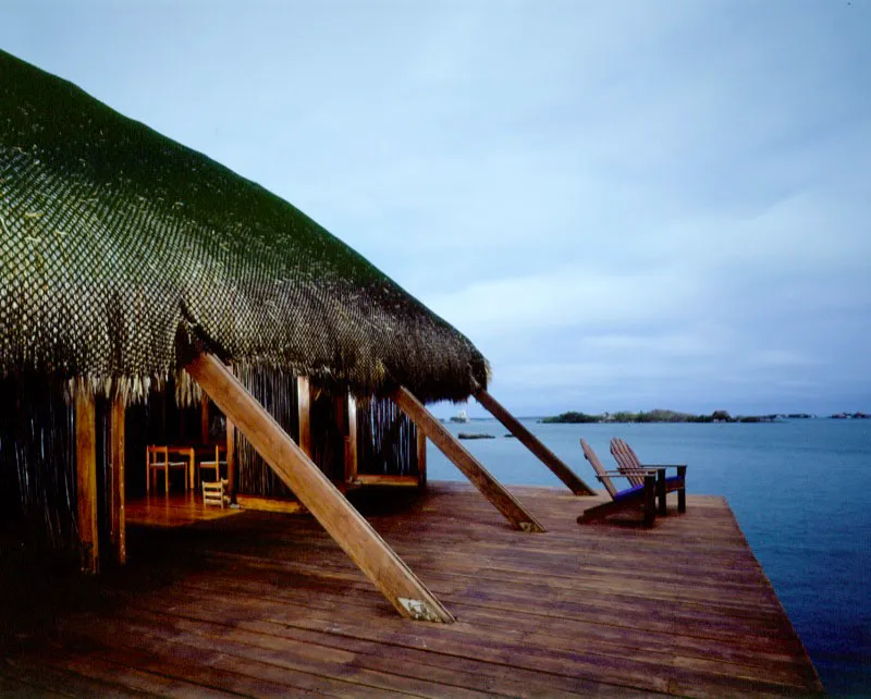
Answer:
<path fill-rule="evenodd" d="M 294 204 L 520 416 L 871 412 L 869 36 L 871 0 L 0 4 L 0 48 Z"/>

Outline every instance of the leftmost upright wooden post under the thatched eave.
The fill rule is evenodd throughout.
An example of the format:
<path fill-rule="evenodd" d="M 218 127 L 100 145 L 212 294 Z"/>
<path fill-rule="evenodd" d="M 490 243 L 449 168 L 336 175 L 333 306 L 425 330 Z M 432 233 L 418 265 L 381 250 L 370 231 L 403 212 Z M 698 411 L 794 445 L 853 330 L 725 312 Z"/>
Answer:
<path fill-rule="evenodd" d="M 79 381 L 75 390 L 75 471 L 82 572 L 100 571 L 97 536 L 97 420 L 94 396 Z"/>

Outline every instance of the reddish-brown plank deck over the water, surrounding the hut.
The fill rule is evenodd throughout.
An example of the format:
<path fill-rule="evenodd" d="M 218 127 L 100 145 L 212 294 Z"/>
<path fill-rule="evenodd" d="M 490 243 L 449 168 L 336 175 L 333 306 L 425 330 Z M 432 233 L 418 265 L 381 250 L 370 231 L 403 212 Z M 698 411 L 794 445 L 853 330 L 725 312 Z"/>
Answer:
<path fill-rule="evenodd" d="M 74 604 L 7 634 L 0 694 L 821 690 L 724 499 L 690 496 L 686 515 L 643 529 L 579 526 L 576 516 L 598 500 L 512 491 L 547 534 L 511 529 L 459 485 L 392 500 L 355 494 L 453 625 L 400 618 L 308 515 L 212 510 L 205 514 L 217 518 L 163 528 L 205 511 L 131 503 L 128 566 L 82 582 Z"/>

